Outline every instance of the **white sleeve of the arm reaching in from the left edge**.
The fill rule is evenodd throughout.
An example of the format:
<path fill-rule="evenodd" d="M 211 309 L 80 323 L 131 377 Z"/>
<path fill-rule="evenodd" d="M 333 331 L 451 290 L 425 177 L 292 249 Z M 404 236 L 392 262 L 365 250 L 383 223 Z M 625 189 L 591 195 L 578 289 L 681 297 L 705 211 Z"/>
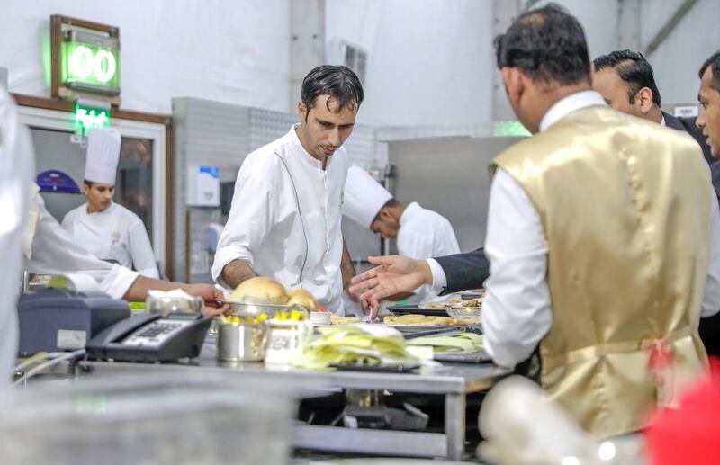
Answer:
<path fill-rule="evenodd" d="M 88 274 L 100 284 L 101 291 L 114 299 L 122 299 L 139 273 L 103 262 L 88 252 L 45 209 L 40 194 L 35 194 L 32 201 L 40 208 L 40 218 L 32 237 L 31 257 L 25 258 L 25 269 L 31 273 Z"/>

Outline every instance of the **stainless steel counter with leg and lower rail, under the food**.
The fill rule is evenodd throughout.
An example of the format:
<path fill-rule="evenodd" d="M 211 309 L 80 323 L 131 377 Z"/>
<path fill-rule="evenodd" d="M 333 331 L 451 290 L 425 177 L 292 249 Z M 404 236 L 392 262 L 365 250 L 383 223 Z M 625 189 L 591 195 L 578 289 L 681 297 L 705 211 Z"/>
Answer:
<path fill-rule="evenodd" d="M 305 425 L 294 427 L 293 446 L 333 452 L 359 452 L 411 457 L 463 458 L 466 396 L 490 389 L 511 371 L 491 364 L 446 364 L 422 368 L 419 373 L 376 373 L 364 371 L 302 371 L 290 366 L 262 362 L 218 362 L 215 346 L 205 344 L 201 356 L 190 362 L 166 364 L 126 362 L 81 362 L 98 375 L 144 371 L 188 371 L 245 377 L 268 383 L 294 382 L 327 389 L 387 389 L 395 392 L 439 394 L 445 397 L 445 432 L 351 429 Z"/>

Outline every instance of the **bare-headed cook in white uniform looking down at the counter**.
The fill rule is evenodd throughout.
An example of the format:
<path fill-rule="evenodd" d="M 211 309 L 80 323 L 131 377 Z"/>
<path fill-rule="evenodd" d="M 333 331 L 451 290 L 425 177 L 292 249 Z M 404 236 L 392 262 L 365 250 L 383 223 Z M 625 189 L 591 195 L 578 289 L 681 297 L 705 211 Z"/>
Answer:
<path fill-rule="evenodd" d="M 234 288 L 269 276 L 343 314 L 342 292 L 355 270 L 340 231 L 348 165 L 341 146 L 362 102 L 362 85 L 347 67 L 316 67 L 305 77 L 301 122 L 240 167 L 213 279 Z"/>

